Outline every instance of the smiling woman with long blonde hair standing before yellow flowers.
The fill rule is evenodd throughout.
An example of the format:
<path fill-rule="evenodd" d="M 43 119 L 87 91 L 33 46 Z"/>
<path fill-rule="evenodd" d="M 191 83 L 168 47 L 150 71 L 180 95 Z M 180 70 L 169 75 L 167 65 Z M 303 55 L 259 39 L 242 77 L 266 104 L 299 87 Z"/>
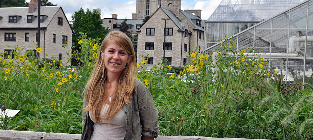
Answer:
<path fill-rule="evenodd" d="M 121 31 L 111 31 L 101 44 L 85 86 L 81 139 L 153 140 L 158 136 L 156 107 L 135 74 L 130 38 Z"/>

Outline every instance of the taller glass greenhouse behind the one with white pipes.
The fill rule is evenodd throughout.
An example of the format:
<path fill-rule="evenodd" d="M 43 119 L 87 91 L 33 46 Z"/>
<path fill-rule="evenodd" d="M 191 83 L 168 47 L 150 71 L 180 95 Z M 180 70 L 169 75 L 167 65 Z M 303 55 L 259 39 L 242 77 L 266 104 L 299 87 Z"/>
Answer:
<path fill-rule="evenodd" d="M 303 0 L 223 0 L 206 22 L 206 46 L 225 35 L 235 35 L 269 19 Z"/>

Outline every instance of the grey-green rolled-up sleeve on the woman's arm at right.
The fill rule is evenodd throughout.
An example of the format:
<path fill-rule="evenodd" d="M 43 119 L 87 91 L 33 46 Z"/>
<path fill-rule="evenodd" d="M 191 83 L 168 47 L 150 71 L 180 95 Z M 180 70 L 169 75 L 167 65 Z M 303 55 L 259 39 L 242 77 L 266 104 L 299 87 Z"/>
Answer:
<path fill-rule="evenodd" d="M 142 87 L 143 86 L 143 87 Z M 138 110 L 141 123 L 141 135 L 156 138 L 159 135 L 158 112 L 152 96 L 143 83 L 139 86 Z"/>

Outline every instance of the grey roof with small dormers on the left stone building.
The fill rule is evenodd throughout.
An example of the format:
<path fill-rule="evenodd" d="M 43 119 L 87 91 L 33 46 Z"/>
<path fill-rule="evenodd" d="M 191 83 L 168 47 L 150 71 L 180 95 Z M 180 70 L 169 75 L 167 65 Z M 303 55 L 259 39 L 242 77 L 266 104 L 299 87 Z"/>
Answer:
<path fill-rule="evenodd" d="M 48 16 L 43 23 L 40 23 L 40 28 L 47 28 L 55 14 L 58 12 L 59 9 L 63 9 L 61 6 L 43 6 L 40 7 L 40 15 Z M 36 18 L 33 20 L 32 23 L 27 23 L 27 16 L 33 15 Z M 28 7 L 13 7 L 13 8 L 0 8 L 0 16 L 3 18 L 0 19 L 0 29 L 1 28 L 37 28 L 38 26 L 38 7 L 33 12 L 28 12 Z M 17 21 L 17 23 L 8 23 L 9 17 L 8 16 L 20 16 L 21 18 Z M 64 14 L 65 16 L 65 14 Z M 65 16 L 66 19 L 66 16 Z M 65 21 L 65 20 L 63 20 Z M 66 19 L 69 24 L 69 21 Z M 70 24 L 69 24 L 70 25 Z M 72 29 L 72 27 L 70 26 Z M 73 30 L 72 30 L 73 31 Z"/>

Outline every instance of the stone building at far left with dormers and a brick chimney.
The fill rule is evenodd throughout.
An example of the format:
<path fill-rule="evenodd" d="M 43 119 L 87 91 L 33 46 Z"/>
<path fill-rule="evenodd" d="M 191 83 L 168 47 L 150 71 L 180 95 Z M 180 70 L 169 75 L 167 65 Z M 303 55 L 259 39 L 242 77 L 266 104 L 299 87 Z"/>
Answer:
<path fill-rule="evenodd" d="M 0 8 L 0 52 L 7 51 L 8 55 L 4 57 L 8 59 L 8 56 L 16 51 L 14 45 L 18 44 L 26 50 L 34 49 L 37 43 L 38 20 L 40 20 L 42 52 L 39 53 L 39 58 L 50 59 L 54 56 L 56 60 L 63 59 L 67 62 L 69 56 L 62 45 L 67 42 L 71 50 L 73 30 L 62 7 L 40 7 L 40 17 L 38 17 L 37 6 L 38 1 L 31 0 L 28 7 Z M 25 53 L 25 50 L 22 53 Z"/>

